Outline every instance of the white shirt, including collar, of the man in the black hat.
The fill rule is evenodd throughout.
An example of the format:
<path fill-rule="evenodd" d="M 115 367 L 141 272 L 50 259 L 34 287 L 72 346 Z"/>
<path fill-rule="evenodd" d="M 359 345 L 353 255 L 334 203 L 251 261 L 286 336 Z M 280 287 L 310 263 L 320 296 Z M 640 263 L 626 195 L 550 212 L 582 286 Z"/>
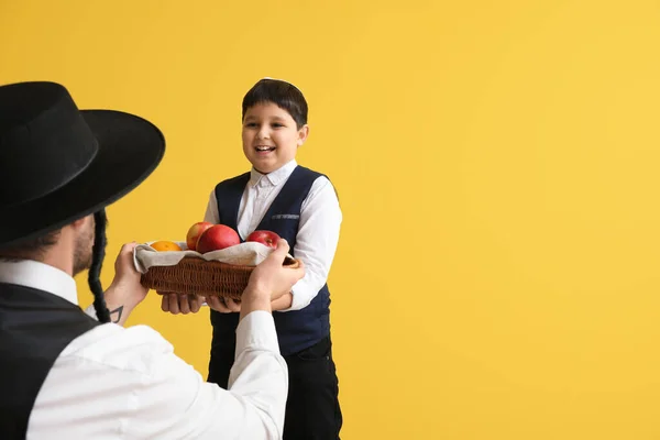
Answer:
<path fill-rule="evenodd" d="M 0 262 L 0 282 L 77 305 L 74 278 L 42 263 Z M 239 323 L 229 391 L 206 383 L 150 327 L 106 323 L 57 358 L 36 396 L 28 439 L 280 439 L 287 388 L 266 311 Z"/>

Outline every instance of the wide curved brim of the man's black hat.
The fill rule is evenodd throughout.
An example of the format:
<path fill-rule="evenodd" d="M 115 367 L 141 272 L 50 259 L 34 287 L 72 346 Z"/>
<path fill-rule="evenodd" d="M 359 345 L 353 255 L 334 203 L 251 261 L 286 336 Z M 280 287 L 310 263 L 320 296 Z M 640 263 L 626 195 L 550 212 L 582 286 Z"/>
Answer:
<path fill-rule="evenodd" d="M 80 111 L 99 150 L 89 166 L 62 188 L 3 209 L 0 246 L 34 239 L 119 200 L 156 168 L 165 139 L 151 122 L 113 110 Z"/>

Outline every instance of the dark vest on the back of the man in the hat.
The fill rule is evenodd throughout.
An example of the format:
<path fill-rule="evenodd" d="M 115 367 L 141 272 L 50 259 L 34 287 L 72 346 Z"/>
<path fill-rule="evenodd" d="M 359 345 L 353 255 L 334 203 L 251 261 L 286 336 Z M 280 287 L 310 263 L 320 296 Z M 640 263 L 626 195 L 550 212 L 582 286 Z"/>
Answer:
<path fill-rule="evenodd" d="M 59 353 L 99 322 L 47 292 L 0 283 L 0 438 L 25 439 L 36 396 Z"/>

